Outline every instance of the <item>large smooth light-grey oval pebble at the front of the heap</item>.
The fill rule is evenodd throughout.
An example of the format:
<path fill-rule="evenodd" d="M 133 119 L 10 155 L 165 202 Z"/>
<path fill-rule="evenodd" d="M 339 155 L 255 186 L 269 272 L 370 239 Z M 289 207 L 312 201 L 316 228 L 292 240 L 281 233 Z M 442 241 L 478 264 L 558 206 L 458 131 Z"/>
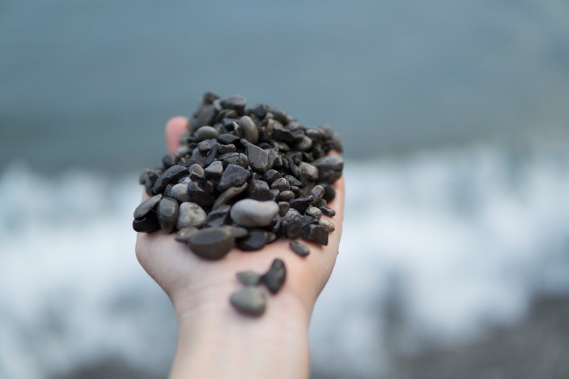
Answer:
<path fill-rule="evenodd" d="M 263 227 L 271 223 L 278 211 L 279 206 L 274 201 L 243 199 L 233 205 L 231 219 L 240 226 Z"/>

